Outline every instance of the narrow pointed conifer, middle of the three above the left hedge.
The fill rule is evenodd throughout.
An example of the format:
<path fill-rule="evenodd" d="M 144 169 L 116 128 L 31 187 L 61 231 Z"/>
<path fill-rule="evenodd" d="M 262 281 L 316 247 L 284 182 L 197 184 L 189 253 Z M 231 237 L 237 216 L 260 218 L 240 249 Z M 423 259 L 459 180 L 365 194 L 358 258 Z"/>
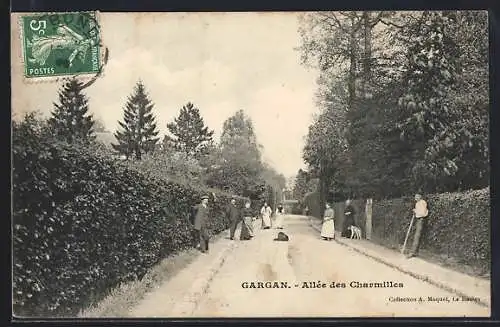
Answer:
<path fill-rule="evenodd" d="M 142 154 L 152 152 L 158 143 L 159 132 L 156 129 L 153 107 L 144 84 L 142 81 L 137 82 L 125 104 L 123 122 L 118 122 L 121 127 L 121 131 L 115 133 L 118 144 L 112 144 L 127 159 L 135 156 L 137 160 L 141 160 Z"/>

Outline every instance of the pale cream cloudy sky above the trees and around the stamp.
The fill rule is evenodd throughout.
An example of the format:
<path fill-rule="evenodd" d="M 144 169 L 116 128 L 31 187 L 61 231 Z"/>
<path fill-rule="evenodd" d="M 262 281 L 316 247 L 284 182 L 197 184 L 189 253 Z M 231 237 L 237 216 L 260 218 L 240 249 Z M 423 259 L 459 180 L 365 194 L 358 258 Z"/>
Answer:
<path fill-rule="evenodd" d="M 243 109 L 264 161 L 286 177 L 304 168 L 301 150 L 317 111 L 317 73 L 300 64 L 296 13 L 100 13 L 109 49 L 104 74 L 85 90 L 89 108 L 115 131 L 138 80 L 155 104 L 158 129 L 187 102 L 218 140 L 223 122 Z M 12 26 L 12 112 L 49 114 L 60 83 L 23 78 L 17 17 Z"/>

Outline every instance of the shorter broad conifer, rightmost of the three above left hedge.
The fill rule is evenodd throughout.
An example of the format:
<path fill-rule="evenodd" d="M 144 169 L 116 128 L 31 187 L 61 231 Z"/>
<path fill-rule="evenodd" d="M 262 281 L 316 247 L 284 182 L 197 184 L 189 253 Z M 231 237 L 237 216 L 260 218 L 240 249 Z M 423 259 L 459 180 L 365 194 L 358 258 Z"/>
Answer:
<path fill-rule="evenodd" d="M 179 116 L 167 128 L 171 135 L 165 136 L 164 143 L 189 156 L 205 155 L 212 145 L 214 132 L 205 126 L 200 110 L 191 102 L 181 108 Z"/>

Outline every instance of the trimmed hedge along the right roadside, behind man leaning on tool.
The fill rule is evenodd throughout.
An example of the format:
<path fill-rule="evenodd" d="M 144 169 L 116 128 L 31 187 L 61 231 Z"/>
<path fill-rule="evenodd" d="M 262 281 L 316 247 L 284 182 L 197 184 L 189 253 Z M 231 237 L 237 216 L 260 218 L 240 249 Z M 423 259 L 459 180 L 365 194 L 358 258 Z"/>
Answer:
<path fill-rule="evenodd" d="M 467 191 L 426 196 L 427 229 L 421 249 L 455 258 L 459 263 L 490 271 L 490 191 Z M 412 197 L 373 203 L 373 241 L 395 247 L 403 244 L 414 207 Z M 412 228 L 411 235 L 414 235 Z M 412 237 L 408 244 L 411 245 Z"/>

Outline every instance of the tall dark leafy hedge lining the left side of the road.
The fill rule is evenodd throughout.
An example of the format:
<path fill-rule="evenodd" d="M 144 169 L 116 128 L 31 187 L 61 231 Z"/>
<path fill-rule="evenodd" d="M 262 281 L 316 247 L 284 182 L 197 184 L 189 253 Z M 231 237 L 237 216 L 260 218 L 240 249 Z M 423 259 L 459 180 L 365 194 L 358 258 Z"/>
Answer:
<path fill-rule="evenodd" d="M 187 215 L 206 190 L 145 178 L 27 123 L 14 125 L 12 149 L 15 315 L 75 315 L 192 245 Z M 212 234 L 227 228 L 228 202 L 211 203 Z"/>

